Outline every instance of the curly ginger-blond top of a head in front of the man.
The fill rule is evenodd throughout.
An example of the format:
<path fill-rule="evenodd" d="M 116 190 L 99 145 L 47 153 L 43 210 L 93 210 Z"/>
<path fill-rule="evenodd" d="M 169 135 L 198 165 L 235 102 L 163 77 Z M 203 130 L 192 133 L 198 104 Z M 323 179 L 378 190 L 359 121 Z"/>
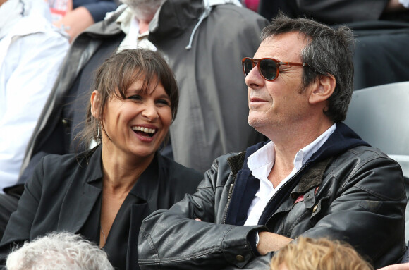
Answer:
<path fill-rule="evenodd" d="M 372 270 L 348 243 L 300 237 L 271 259 L 271 270 Z"/>

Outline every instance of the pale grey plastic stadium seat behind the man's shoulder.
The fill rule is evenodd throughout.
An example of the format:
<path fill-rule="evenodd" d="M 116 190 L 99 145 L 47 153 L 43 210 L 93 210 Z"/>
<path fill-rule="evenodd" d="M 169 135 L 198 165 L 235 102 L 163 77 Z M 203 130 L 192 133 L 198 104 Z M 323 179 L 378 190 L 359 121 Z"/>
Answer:
<path fill-rule="evenodd" d="M 409 196 L 409 81 L 355 90 L 346 125 L 363 140 L 398 161 Z M 405 239 L 409 241 L 409 206 Z"/>

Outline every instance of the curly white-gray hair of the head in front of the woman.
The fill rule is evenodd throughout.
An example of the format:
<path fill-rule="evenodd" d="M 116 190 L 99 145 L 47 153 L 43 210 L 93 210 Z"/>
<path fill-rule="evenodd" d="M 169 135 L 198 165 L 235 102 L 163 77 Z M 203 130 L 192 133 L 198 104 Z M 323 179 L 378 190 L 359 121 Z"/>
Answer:
<path fill-rule="evenodd" d="M 49 233 L 13 250 L 7 270 L 114 270 L 104 250 L 68 232 Z"/>

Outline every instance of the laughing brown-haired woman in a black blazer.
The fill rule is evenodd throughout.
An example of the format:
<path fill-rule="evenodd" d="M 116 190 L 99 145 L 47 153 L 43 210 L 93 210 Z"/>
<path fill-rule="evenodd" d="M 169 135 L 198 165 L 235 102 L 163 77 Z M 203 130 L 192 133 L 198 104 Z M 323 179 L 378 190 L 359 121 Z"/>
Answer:
<path fill-rule="evenodd" d="M 1 254 L 13 243 L 70 231 L 103 247 L 116 269 L 139 269 L 142 219 L 193 193 L 202 178 L 157 151 L 177 107 L 176 80 L 157 52 L 126 50 L 107 59 L 83 134 L 87 143 L 101 143 L 42 159 L 8 222 Z"/>

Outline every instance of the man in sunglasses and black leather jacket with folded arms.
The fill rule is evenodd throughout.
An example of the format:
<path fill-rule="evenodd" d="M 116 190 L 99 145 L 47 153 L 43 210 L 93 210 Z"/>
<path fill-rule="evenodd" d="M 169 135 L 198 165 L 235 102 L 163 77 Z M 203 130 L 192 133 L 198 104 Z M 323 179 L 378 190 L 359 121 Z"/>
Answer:
<path fill-rule="evenodd" d="M 346 241 L 377 268 L 401 259 L 401 168 L 341 123 L 352 42 L 347 27 L 305 18 L 264 28 L 243 70 L 248 123 L 269 141 L 219 157 L 194 195 L 148 216 L 141 269 L 268 269 L 300 235 Z"/>

